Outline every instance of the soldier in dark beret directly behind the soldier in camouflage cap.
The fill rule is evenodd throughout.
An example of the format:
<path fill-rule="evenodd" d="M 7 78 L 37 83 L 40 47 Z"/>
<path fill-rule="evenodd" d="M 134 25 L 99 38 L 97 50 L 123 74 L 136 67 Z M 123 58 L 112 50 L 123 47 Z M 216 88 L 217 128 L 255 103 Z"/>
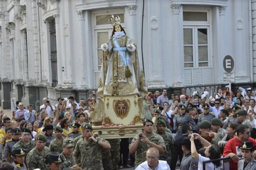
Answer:
<path fill-rule="evenodd" d="M 49 145 L 49 149 L 51 152 L 61 153 L 63 151 L 62 145 L 63 145 L 64 137 L 62 136 L 62 132 L 63 130 L 60 126 L 54 127 L 54 133 L 56 135 L 56 139 L 53 139 Z"/>

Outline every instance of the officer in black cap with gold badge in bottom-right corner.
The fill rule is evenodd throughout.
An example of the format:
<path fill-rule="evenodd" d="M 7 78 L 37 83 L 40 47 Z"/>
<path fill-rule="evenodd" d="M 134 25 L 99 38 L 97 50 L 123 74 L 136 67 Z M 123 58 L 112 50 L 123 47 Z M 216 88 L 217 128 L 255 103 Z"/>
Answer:
<path fill-rule="evenodd" d="M 238 170 L 255 170 L 256 160 L 253 158 L 254 146 L 251 141 L 244 141 L 239 147 L 240 153 L 244 159 L 238 162 Z"/>

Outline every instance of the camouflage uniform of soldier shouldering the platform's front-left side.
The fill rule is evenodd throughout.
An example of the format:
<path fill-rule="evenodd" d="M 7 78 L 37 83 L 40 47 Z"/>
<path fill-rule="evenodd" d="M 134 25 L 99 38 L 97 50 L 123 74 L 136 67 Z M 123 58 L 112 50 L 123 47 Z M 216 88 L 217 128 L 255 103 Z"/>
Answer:
<path fill-rule="evenodd" d="M 96 137 L 96 140 L 108 142 L 99 137 Z M 103 170 L 101 149 L 99 144 L 84 142 L 84 138 L 82 138 L 76 143 L 73 154 L 76 158 L 81 156 L 80 166 L 83 170 Z"/>

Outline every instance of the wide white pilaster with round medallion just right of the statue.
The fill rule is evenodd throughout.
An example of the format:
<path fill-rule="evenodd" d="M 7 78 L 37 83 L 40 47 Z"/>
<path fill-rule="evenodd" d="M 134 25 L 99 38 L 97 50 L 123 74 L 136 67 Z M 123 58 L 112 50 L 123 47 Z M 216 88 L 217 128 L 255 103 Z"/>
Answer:
<path fill-rule="evenodd" d="M 160 1 L 148 0 L 148 88 L 165 88 L 163 80 L 163 57 L 161 51 Z"/>

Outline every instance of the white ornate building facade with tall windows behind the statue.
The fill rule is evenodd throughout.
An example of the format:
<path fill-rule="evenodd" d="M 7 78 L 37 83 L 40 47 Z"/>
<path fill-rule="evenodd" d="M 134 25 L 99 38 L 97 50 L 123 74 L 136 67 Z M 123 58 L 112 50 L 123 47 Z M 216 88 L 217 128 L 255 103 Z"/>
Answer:
<path fill-rule="evenodd" d="M 111 14 L 137 42 L 148 89 L 215 91 L 227 55 L 234 88 L 256 81 L 256 0 L 0 0 L 0 105 L 96 92 Z"/>

